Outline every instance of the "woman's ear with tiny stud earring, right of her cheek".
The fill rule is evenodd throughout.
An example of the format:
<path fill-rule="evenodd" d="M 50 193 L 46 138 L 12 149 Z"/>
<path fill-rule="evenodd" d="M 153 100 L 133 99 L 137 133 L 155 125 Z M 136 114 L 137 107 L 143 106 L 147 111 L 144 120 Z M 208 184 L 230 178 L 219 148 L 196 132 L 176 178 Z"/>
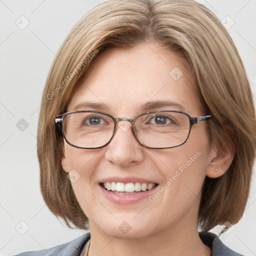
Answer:
<path fill-rule="evenodd" d="M 208 165 L 206 175 L 216 178 L 223 175 L 229 168 L 235 153 L 234 143 L 230 142 L 227 146 L 212 148 L 211 161 Z"/>

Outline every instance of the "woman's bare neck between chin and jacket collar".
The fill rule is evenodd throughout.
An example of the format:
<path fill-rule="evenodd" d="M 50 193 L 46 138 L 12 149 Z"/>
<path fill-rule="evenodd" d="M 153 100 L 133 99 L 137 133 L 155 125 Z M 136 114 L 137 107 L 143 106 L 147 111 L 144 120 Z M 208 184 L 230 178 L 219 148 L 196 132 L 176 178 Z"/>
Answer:
<path fill-rule="evenodd" d="M 187 228 L 186 221 L 182 226 L 172 226 L 161 229 L 153 234 L 129 238 L 110 236 L 103 232 L 93 222 L 90 222 L 90 247 L 88 256 L 210 256 L 211 249 L 201 241 L 196 225 Z"/>

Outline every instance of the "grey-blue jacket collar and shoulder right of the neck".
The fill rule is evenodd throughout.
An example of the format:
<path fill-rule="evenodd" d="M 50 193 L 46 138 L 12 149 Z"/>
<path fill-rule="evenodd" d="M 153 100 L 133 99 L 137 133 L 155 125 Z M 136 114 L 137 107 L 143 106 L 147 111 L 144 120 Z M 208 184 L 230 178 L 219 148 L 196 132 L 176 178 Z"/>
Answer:
<path fill-rule="evenodd" d="M 216 234 L 211 232 L 199 232 L 202 242 L 211 247 L 211 256 L 243 256 L 228 248 Z"/>

